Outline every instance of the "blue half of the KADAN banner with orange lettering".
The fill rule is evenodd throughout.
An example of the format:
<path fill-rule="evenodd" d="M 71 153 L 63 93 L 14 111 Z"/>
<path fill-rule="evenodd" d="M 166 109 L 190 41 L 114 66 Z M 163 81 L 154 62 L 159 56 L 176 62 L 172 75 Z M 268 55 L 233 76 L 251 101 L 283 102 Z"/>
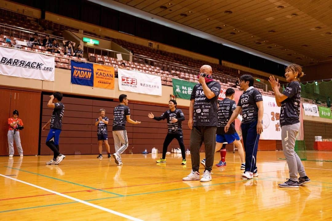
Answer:
<path fill-rule="evenodd" d="M 71 83 L 93 87 L 93 64 L 71 60 Z"/>

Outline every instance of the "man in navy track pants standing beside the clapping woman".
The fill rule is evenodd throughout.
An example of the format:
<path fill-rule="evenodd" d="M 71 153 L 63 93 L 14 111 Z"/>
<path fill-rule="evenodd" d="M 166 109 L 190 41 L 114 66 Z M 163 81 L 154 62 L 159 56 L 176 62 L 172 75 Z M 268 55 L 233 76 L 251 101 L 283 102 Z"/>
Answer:
<path fill-rule="evenodd" d="M 263 132 L 263 98 L 262 94 L 253 87 L 254 78 L 249 74 L 240 77 L 240 89 L 243 94 L 240 96 L 236 109 L 233 111 L 225 132 L 230 128 L 230 124 L 235 120 L 242 110 L 242 138 L 244 151 L 246 153 L 245 171 L 242 177 L 252 179 L 257 177 L 256 156 L 260 134 Z"/>

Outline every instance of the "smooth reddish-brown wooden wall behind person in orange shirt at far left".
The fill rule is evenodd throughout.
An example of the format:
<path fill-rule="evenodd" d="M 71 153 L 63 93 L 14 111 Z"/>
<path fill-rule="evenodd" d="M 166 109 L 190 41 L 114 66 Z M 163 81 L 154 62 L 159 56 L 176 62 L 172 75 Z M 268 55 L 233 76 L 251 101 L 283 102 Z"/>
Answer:
<path fill-rule="evenodd" d="M 38 154 L 41 92 L 0 88 L 0 96 L 0 156 L 8 155 L 8 118 L 14 109 L 24 123 L 24 130 L 20 131 L 23 154 Z M 18 154 L 15 142 L 14 151 Z"/>

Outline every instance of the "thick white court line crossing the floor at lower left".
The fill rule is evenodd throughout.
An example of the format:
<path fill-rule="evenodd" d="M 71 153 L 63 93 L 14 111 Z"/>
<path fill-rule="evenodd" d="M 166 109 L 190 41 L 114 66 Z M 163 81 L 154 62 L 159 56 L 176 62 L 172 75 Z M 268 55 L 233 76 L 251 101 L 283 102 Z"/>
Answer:
<path fill-rule="evenodd" d="M 123 213 L 120 213 L 120 212 L 117 212 L 117 211 L 114 211 L 114 210 L 111 210 L 111 209 L 107 209 L 105 207 L 102 207 L 102 206 L 98 206 L 98 205 L 95 205 L 95 204 L 92 204 L 92 203 L 89 203 L 89 202 L 86 202 L 84 200 L 81 200 L 81 199 L 77 199 L 77 198 L 74 198 L 74 197 L 71 197 L 71 196 L 68 196 L 68 195 L 65 195 L 65 194 L 62 194 L 62 193 L 59 193 L 59 192 L 55 192 L 53 190 L 50 190 L 50 189 L 46 189 L 44 187 L 41 187 L 41 186 L 38 186 L 38 185 L 35 185 L 35 184 L 30 184 L 30 183 L 27 183 L 25 181 L 21 181 L 21 180 L 18 180 L 18 179 L 15 179 L 15 178 L 12 178 L 12 177 L 8 177 L 6 175 L 3 175 L 3 174 L 0 174 L 0 176 L 4 177 L 4 178 L 8 178 L 8 179 L 11 179 L 11 180 L 15 180 L 17 182 L 20 182 L 20 183 L 23 183 L 23 184 L 27 184 L 27 185 L 30 185 L 30 186 L 33 186 L 33 187 L 36 187 L 36 188 L 39 188 L 39 189 L 42 189 L 42 190 L 45 190 L 47 192 L 51 192 L 51 193 L 54 193 L 54 194 L 57 194 L 59 196 L 63 196 L 65 198 L 68 198 L 68 199 L 71 199 L 71 200 L 74 200 L 76 202 L 80 202 L 80 203 L 83 203 L 85 205 L 88 205 L 88 206 L 91 206 L 91 207 L 94 207 L 94 208 L 97 208 L 97 209 L 100 209 L 100 210 L 103 210 L 105 212 L 109 212 L 109 213 L 112 213 L 112 214 L 115 214 L 115 215 L 118 215 L 118 216 L 121 216 L 121 217 L 124 217 L 126 219 L 129 219 L 129 220 L 133 220 L 133 221 L 143 221 L 141 219 L 138 219 L 138 218 L 135 218 L 135 217 L 132 217 L 132 216 L 128 216 L 126 214 L 123 214 Z"/>

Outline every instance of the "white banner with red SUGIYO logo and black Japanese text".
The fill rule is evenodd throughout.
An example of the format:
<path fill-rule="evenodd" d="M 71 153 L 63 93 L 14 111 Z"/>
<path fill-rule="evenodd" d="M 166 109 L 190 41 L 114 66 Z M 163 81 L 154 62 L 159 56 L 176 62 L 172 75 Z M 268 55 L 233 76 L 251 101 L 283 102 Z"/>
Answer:
<path fill-rule="evenodd" d="M 119 90 L 161 96 L 161 77 L 118 68 Z"/>

